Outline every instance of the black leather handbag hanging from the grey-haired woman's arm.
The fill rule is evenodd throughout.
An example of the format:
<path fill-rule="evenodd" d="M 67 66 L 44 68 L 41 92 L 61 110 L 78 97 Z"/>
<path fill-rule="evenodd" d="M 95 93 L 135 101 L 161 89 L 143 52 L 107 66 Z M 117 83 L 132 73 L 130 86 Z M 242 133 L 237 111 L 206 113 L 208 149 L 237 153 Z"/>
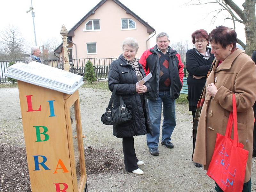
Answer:
<path fill-rule="evenodd" d="M 113 108 L 113 100 L 116 95 L 116 88 L 117 85 L 114 86 L 108 107 L 106 108 L 106 112 L 101 116 L 101 122 L 105 125 L 118 125 L 132 119 L 131 112 L 126 108 L 121 95 L 119 95 L 120 106 L 118 108 Z"/>

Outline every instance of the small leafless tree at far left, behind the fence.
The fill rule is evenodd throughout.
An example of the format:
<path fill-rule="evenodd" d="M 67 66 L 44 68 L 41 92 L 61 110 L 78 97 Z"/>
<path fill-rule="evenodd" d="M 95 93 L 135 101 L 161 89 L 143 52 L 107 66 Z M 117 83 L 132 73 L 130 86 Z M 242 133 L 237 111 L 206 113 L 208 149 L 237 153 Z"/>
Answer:
<path fill-rule="evenodd" d="M 25 53 L 24 39 L 15 26 L 9 25 L 1 31 L 0 44 L 6 59 L 17 60 Z"/>

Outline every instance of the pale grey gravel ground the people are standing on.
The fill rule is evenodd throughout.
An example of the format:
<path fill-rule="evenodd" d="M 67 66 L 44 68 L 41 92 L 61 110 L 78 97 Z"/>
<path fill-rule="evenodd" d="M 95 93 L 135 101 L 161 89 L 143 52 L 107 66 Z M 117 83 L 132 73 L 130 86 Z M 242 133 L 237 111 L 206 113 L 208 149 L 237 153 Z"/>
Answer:
<path fill-rule="evenodd" d="M 113 136 L 112 127 L 100 121 L 108 105 L 110 92 L 80 88 L 79 93 L 83 134 L 86 135 L 85 148 L 115 149 L 123 158 L 122 139 Z M 24 147 L 18 88 L 1 88 L 0 106 L 0 145 Z M 202 167 L 195 167 L 191 161 L 191 120 L 188 106 L 176 105 L 177 125 L 172 134 L 173 149 L 160 145 L 160 155 L 151 156 L 146 136 L 136 136 L 136 155 L 145 163 L 140 166 L 144 174 L 135 175 L 124 171 L 89 174 L 88 191 L 214 192 L 214 181 Z M 252 162 L 252 191 L 256 191 L 256 158 Z"/>

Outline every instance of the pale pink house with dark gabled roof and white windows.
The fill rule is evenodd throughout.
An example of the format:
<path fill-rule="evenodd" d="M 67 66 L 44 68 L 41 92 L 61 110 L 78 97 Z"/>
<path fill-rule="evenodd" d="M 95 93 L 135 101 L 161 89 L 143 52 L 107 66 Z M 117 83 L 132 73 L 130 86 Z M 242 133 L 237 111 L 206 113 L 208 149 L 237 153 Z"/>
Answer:
<path fill-rule="evenodd" d="M 138 41 L 140 56 L 149 48 L 149 38 L 155 31 L 120 1 L 102 0 L 69 30 L 69 59 L 117 58 L 126 37 Z M 61 58 L 63 45 L 54 52 L 60 53 Z"/>

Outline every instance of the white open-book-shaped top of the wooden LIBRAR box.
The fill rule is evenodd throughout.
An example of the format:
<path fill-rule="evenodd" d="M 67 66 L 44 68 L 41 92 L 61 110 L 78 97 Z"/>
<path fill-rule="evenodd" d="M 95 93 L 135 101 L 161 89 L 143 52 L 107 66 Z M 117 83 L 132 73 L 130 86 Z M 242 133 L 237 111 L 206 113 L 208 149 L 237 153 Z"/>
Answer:
<path fill-rule="evenodd" d="M 73 94 L 84 84 L 83 76 L 36 61 L 13 64 L 4 76 L 67 94 Z"/>

